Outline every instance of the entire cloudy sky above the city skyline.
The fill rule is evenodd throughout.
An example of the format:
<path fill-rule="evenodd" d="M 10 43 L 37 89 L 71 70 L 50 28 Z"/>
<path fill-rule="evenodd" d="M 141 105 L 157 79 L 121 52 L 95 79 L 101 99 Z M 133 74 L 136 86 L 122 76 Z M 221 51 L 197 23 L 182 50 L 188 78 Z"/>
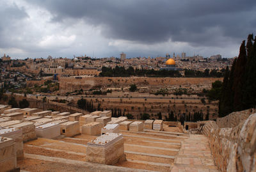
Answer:
<path fill-rule="evenodd" d="M 2 0 L 0 56 L 237 56 L 255 0 Z"/>

